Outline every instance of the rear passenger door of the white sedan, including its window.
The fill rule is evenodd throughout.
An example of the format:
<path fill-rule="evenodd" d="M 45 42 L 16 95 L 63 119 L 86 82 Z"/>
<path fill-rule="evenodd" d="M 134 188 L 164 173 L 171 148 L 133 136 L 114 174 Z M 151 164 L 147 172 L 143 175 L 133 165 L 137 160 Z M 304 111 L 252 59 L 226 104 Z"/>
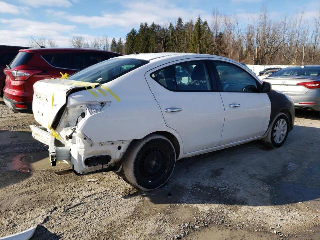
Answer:
<path fill-rule="evenodd" d="M 145 74 L 165 123 L 181 136 L 183 152 L 217 146 L 221 140 L 224 107 L 207 63 L 202 60 L 166 64 Z"/>

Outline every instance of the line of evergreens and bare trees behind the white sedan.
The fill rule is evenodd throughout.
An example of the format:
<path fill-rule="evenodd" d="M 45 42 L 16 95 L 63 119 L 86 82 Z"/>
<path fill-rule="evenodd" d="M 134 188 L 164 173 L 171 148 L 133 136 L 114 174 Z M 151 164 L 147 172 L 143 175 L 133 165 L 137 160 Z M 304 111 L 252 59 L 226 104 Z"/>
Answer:
<path fill-rule="evenodd" d="M 225 56 L 246 64 L 320 64 L 320 11 L 312 20 L 304 12 L 292 18 L 272 20 L 266 6 L 258 19 L 241 23 L 236 15 L 217 9 L 208 23 L 199 16 L 195 22 L 167 26 L 141 23 L 125 37 L 123 52 L 190 52 Z"/>

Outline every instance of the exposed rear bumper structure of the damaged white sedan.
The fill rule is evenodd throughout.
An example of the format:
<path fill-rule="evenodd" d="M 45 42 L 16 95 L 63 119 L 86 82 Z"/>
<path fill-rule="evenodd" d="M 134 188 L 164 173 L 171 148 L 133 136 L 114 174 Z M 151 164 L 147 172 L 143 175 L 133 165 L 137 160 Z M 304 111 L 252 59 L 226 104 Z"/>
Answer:
<path fill-rule="evenodd" d="M 93 143 L 86 142 L 76 135 L 75 143 L 57 140 L 45 127 L 30 125 L 32 136 L 49 146 L 49 158 L 52 166 L 57 162 L 67 162 L 77 173 L 84 174 L 102 168 L 114 167 L 120 162 L 130 140 Z"/>

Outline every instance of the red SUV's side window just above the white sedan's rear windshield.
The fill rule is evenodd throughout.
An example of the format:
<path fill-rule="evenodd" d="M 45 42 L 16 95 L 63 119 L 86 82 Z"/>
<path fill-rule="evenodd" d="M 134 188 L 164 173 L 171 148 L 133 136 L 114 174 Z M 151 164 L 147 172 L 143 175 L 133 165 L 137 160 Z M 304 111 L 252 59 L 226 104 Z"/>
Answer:
<path fill-rule="evenodd" d="M 99 53 L 76 53 L 72 60 L 71 69 L 82 70 L 88 66 L 105 60 L 105 56 Z"/>

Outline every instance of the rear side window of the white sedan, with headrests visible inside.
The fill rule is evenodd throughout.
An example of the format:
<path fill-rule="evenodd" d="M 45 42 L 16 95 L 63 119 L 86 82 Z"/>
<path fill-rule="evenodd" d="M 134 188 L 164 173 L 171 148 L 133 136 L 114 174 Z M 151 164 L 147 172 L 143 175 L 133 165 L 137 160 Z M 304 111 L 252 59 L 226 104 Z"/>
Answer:
<path fill-rule="evenodd" d="M 204 61 L 182 62 L 157 70 L 150 75 L 172 91 L 210 91 L 210 77 Z"/>

